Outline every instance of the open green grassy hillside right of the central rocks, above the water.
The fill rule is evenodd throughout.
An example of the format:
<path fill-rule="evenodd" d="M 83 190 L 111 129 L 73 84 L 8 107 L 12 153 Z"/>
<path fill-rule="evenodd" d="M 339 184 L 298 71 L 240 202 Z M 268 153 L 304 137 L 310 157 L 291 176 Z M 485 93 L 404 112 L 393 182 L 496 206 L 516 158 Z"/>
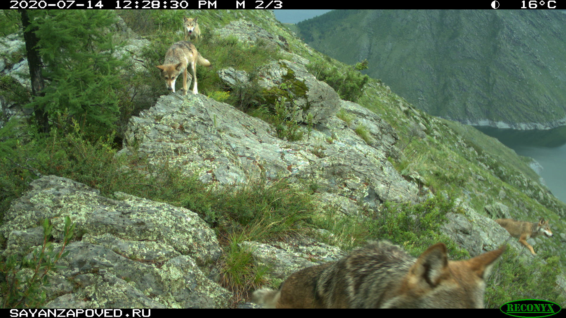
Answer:
<path fill-rule="evenodd" d="M 485 205 L 500 202 L 517 219 L 550 218 L 557 233 L 566 229 L 561 221 L 566 205 L 539 183 L 528 158 L 518 156 L 471 126 L 432 117 L 410 107 L 402 110 L 400 105 L 409 106 L 404 98 L 375 83 L 358 102 L 383 115 L 396 128 L 400 135 L 398 148 L 403 149 L 403 155 L 393 161 L 403 175 L 418 173 L 426 181 L 424 186 L 453 191 L 469 200 L 478 213 L 485 214 Z M 414 123 L 422 123 L 427 136 L 413 139 L 407 145 L 409 127 Z M 546 244 L 562 249 L 559 240 L 549 239 Z"/>

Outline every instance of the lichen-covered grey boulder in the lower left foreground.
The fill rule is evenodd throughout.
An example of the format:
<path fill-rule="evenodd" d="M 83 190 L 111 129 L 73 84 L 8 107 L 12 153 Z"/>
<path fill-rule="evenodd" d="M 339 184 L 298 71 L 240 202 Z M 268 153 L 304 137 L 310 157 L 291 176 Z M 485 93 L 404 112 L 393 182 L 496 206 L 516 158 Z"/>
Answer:
<path fill-rule="evenodd" d="M 50 218 L 55 241 L 64 219 L 76 224 L 48 290 L 49 308 L 221 308 L 231 294 L 214 279 L 216 235 L 184 208 L 117 192 L 119 200 L 53 175 L 33 181 L 0 227 L 3 256 L 27 255 Z M 54 243 L 60 248 L 61 243 Z M 211 279 L 212 278 L 212 279 Z M 65 293 L 65 295 L 61 295 Z M 57 297 L 57 298 L 55 298 Z"/>

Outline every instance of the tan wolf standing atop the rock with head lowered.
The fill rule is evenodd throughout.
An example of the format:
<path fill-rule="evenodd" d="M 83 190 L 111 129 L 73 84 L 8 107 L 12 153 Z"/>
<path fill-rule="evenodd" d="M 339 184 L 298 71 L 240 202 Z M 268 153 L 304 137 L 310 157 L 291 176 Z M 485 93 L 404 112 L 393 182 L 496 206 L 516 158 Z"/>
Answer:
<path fill-rule="evenodd" d="M 192 92 L 198 94 L 196 85 L 196 65 L 211 66 L 208 59 L 203 58 L 196 47 L 189 41 L 179 41 L 165 53 L 163 65 L 156 65 L 161 70 L 161 78 L 169 91 L 175 92 L 175 81 L 183 72 L 183 95 L 187 94 L 187 68 L 191 71 L 191 79 L 194 81 Z M 189 82 L 190 84 L 190 82 Z"/>

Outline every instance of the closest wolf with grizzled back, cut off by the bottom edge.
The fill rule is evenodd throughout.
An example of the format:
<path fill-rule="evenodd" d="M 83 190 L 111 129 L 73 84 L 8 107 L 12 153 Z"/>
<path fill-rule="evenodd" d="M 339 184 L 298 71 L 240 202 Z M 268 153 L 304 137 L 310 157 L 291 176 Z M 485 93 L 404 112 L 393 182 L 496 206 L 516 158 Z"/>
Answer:
<path fill-rule="evenodd" d="M 448 259 L 437 243 L 418 259 L 387 241 L 292 274 L 279 290 L 254 291 L 267 308 L 483 308 L 485 280 L 505 250 Z"/>

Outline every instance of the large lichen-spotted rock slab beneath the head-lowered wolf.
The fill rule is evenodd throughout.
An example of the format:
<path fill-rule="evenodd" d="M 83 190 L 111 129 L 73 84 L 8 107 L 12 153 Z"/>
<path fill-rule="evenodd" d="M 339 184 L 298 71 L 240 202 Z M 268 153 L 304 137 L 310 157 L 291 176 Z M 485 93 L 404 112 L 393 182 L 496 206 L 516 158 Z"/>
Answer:
<path fill-rule="evenodd" d="M 364 124 L 368 140 L 336 116 L 311 128 L 301 141 L 281 140 L 272 126 L 233 106 L 202 95 L 162 96 L 126 131 L 150 164 L 179 167 L 203 182 L 241 184 L 265 176 L 316 183 L 329 192 L 369 207 L 385 200 L 416 201 L 418 190 L 387 160 L 397 135 L 379 115 L 340 101 Z M 354 126 L 354 125 L 352 125 Z M 369 142 L 369 143 L 368 143 Z M 351 207 L 357 213 L 358 207 Z"/>

